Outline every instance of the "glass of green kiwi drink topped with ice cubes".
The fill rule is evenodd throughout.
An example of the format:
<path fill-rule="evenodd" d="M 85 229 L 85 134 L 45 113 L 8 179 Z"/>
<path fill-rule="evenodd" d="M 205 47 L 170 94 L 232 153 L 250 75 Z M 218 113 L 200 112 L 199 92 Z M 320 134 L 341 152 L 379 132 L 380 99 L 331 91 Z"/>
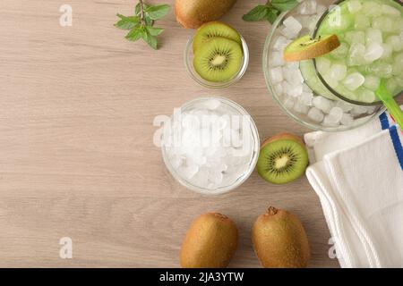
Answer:
<path fill-rule="evenodd" d="M 306 83 L 318 94 L 351 102 L 379 102 L 382 79 L 392 95 L 403 90 L 403 6 L 393 0 L 345 0 L 322 16 L 315 38 L 337 35 L 340 46 L 300 63 Z M 314 66 L 316 65 L 316 67 Z M 319 74 L 318 74 L 319 73 Z M 322 78 L 322 79 L 321 79 Z"/>

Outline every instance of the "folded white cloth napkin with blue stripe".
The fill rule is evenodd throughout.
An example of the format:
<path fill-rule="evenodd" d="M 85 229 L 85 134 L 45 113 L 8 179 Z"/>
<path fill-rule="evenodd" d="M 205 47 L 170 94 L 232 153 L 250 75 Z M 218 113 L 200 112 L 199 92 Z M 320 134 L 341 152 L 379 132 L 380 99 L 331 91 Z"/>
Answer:
<path fill-rule="evenodd" d="M 403 267 L 402 131 L 388 114 L 356 130 L 304 136 L 308 180 L 342 267 Z"/>

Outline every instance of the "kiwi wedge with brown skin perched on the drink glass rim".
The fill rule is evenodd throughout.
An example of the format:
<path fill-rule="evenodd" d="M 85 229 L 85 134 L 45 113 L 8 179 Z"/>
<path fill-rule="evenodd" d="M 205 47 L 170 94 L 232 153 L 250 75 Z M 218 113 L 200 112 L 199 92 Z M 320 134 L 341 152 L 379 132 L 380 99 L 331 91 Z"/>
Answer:
<path fill-rule="evenodd" d="M 320 36 L 311 38 L 306 35 L 297 38 L 284 50 L 284 59 L 287 62 L 303 61 L 326 55 L 340 46 L 336 35 Z"/>

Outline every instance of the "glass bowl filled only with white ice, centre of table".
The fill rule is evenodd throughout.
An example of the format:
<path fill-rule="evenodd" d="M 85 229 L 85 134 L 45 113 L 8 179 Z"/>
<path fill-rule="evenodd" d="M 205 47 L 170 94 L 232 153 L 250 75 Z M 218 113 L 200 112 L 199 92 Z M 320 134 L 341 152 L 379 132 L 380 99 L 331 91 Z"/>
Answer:
<path fill-rule="evenodd" d="M 174 179 L 205 195 L 243 184 L 260 150 L 252 117 L 224 97 L 200 97 L 175 109 L 161 139 L 162 157 Z"/>

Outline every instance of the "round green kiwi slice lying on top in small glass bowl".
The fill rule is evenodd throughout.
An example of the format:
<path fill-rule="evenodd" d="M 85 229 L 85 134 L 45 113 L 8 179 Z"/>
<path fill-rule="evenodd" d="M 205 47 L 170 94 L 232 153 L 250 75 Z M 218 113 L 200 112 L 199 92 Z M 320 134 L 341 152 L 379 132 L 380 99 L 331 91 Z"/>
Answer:
<path fill-rule="evenodd" d="M 194 70 L 212 82 L 231 80 L 243 63 L 241 46 L 232 39 L 215 37 L 206 41 L 193 56 Z"/>

